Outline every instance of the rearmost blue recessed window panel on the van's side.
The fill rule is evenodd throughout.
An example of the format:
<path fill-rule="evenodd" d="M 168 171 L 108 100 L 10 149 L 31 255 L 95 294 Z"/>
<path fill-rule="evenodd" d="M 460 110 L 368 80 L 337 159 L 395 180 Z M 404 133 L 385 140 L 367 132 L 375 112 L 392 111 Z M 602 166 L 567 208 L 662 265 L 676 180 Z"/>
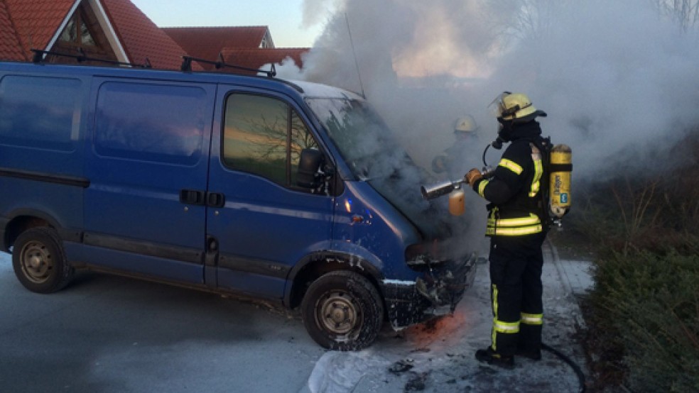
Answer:
<path fill-rule="evenodd" d="M 4 77 L 0 82 L 0 138 L 8 145 L 72 151 L 80 137 L 78 79 Z"/>

